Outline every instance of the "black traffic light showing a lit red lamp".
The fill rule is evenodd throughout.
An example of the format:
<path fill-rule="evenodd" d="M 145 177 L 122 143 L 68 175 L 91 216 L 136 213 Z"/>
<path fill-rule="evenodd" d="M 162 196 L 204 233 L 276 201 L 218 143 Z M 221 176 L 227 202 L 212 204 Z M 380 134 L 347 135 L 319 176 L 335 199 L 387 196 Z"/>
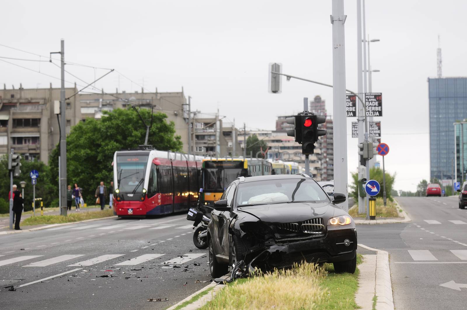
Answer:
<path fill-rule="evenodd" d="M 326 134 L 325 129 L 318 129 L 319 124 L 326 121 L 324 116 L 300 113 L 286 119 L 287 124 L 294 125 L 294 130 L 287 130 L 287 135 L 295 137 L 295 141 L 302 145 L 302 154 L 314 154 L 315 142 L 318 137 Z"/>

